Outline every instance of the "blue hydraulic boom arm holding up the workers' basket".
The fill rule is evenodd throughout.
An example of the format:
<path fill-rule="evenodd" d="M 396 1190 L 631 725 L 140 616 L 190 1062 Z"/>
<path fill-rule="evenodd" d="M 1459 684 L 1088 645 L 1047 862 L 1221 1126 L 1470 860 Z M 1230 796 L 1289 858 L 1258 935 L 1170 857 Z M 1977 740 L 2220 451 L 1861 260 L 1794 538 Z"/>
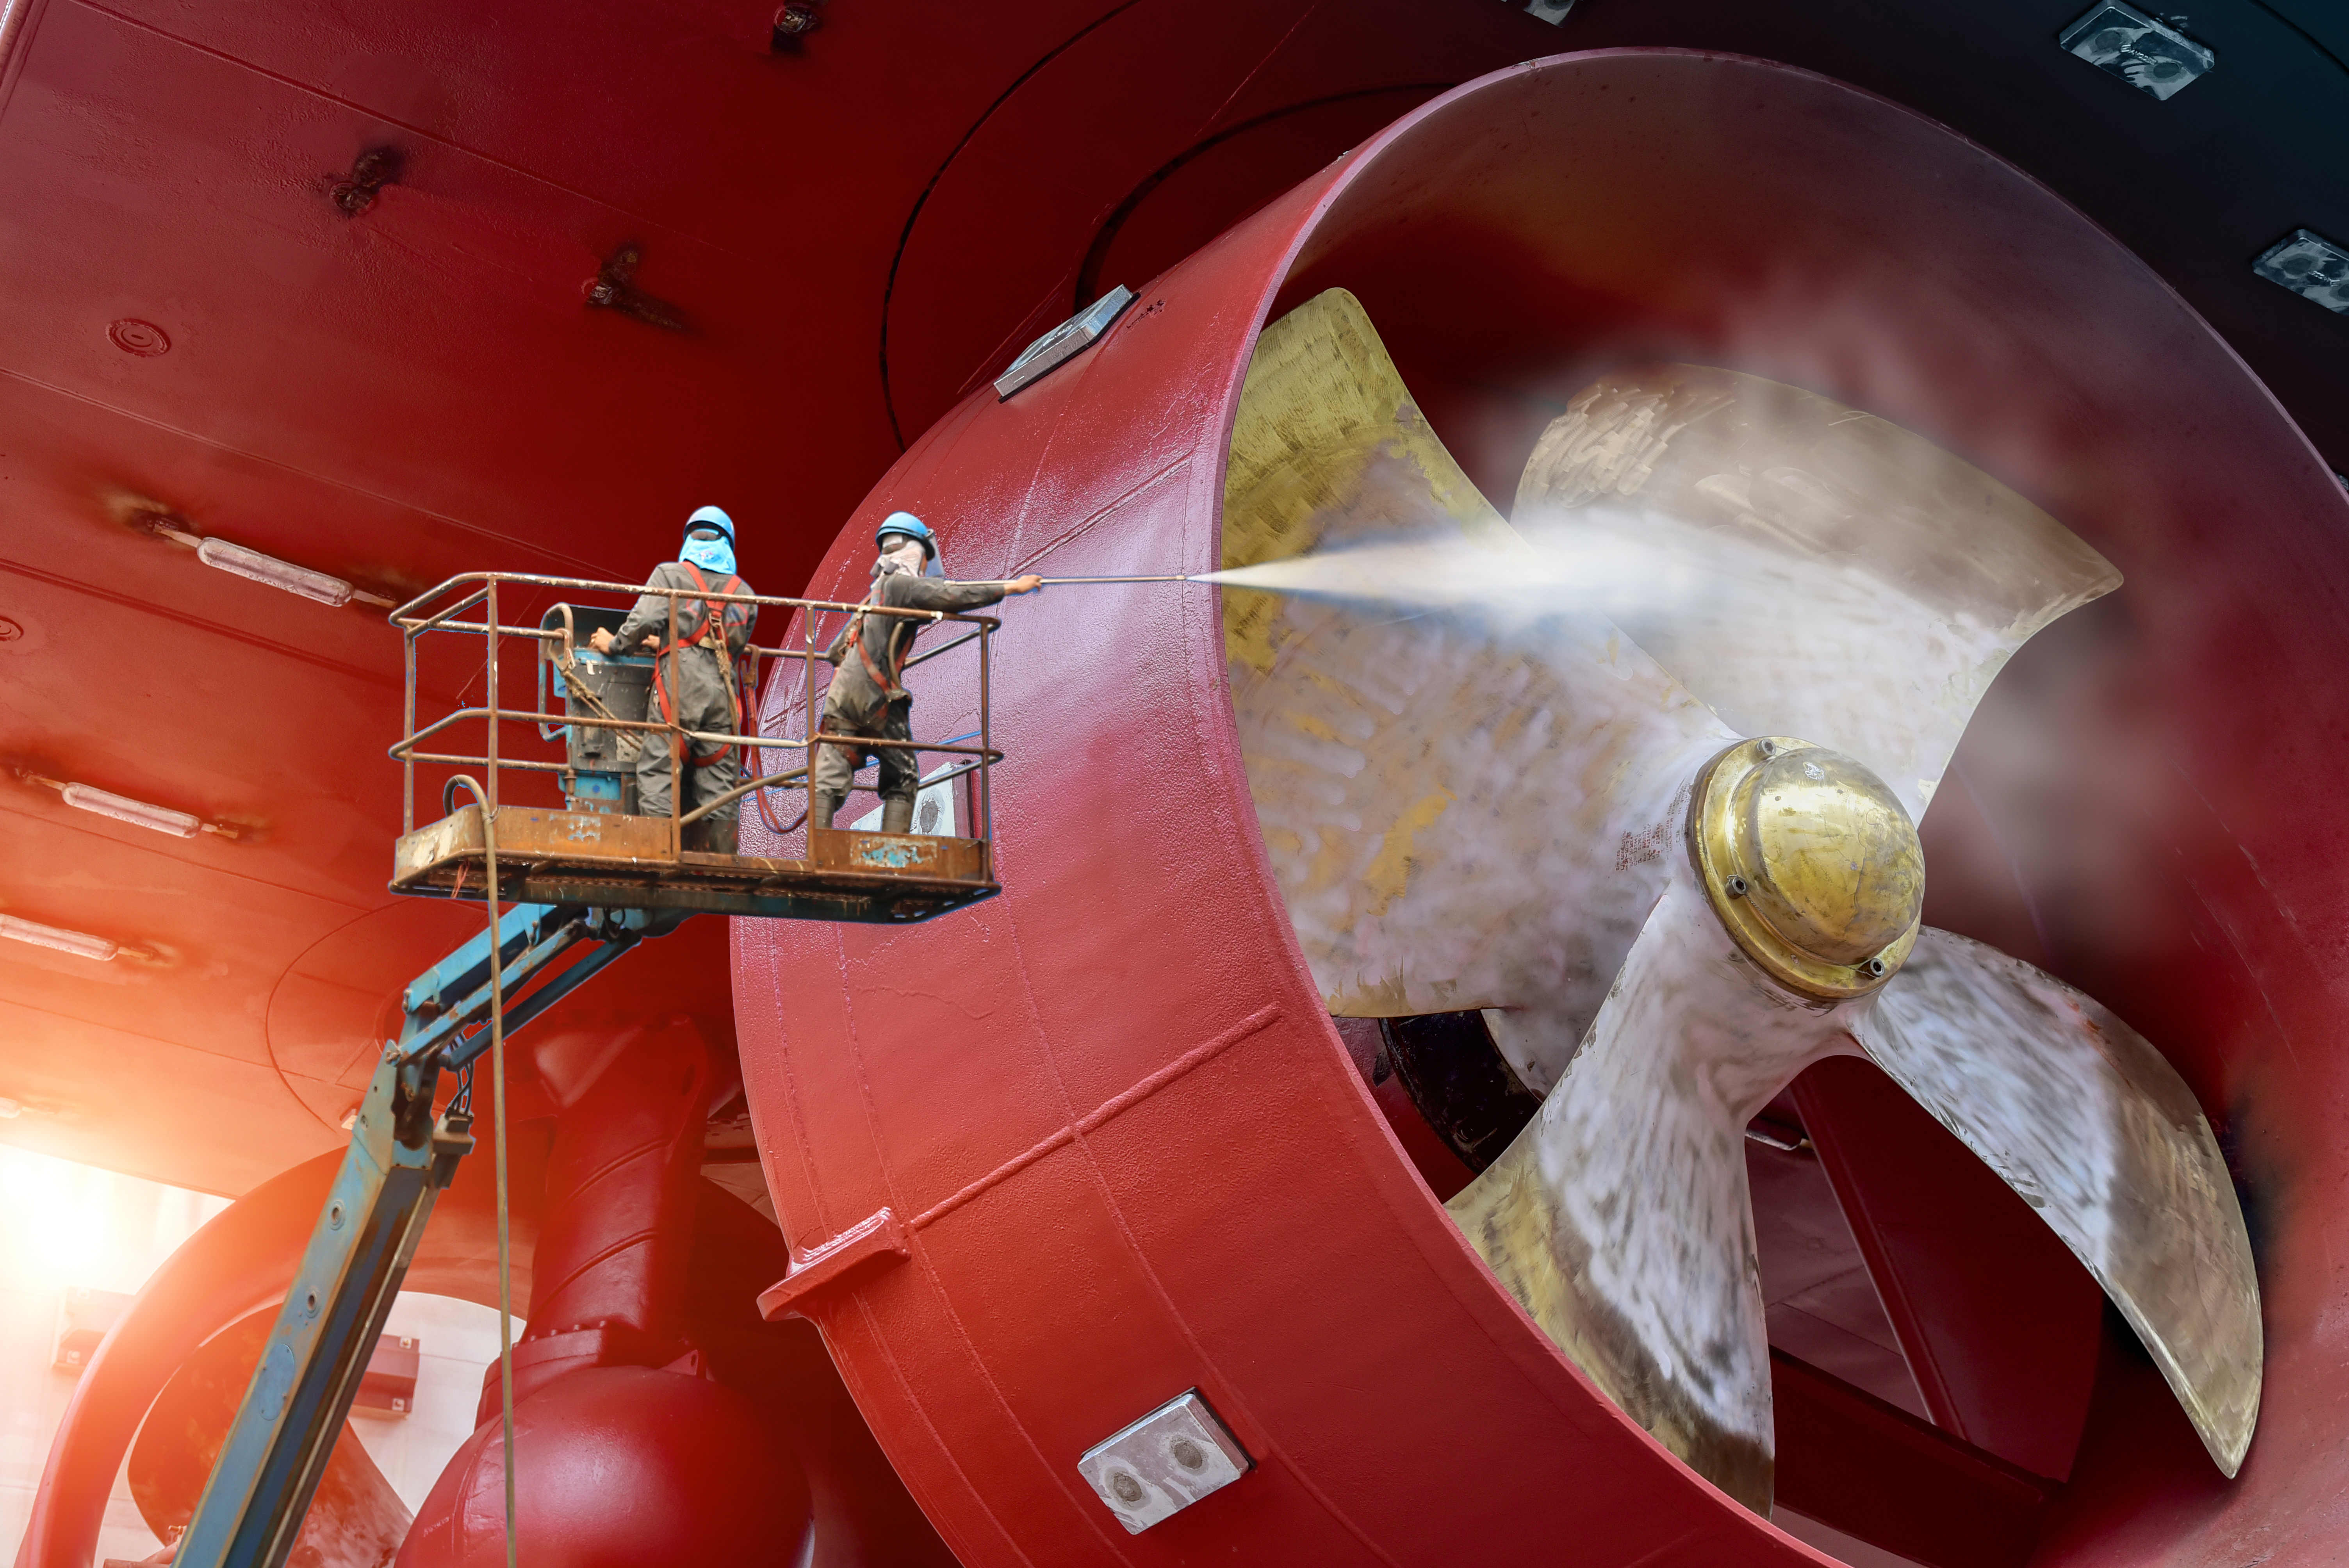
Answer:
<path fill-rule="evenodd" d="M 197 1498 L 176 1568 L 282 1568 L 294 1549 L 432 1204 L 472 1150 L 470 1094 L 437 1117 L 432 1101 L 442 1073 L 465 1070 L 489 1049 L 491 1002 L 503 1000 L 512 1035 L 637 941 L 684 920 L 679 911 L 517 904 L 498 918 L 503 998 L 491 995 L 486 930 L 409 984 L 399 1040 L 385 1045 L 359 1101 L 343 1169 Z M 557 972 L 557 960 L 580 944 L 597 946 Z"/>

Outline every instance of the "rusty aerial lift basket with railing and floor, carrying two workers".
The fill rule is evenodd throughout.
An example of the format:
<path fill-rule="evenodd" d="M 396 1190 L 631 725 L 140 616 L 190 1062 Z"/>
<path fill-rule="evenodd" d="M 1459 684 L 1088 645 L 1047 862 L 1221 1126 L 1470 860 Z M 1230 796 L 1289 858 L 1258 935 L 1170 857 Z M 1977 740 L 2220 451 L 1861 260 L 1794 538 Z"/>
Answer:
<path fill-rule="evenodd" d="M 695 732 L 669 723 L 653 699 L 653 657 L 606 657 L 594 653 L 597 629 L 618 629 L 639 594 L 669 599 L 672 636 L 693 601 L 712 608 L 759 606 L 768 620 L 787 622 L 796 646 L 752 646 L 733 669 L 742 723 L 754 730 L 761 674 L 782 662 L 801 667 L 796 735 Z M 507 620 L 517 608 L 540 610 L 533 622 Z M 712 812 L 728 800 L 763 817 L 780 833 L 794 833 L 813 803 L 810 746 L 820 742 L 817 667 L 824 662 L 829 627 L 855 610 L 947 622 L 949 641 L 914 660 L 975 643 L 977 728 L 954 742 L 890 742 L 855 737 L 860 761 L 883 749 L 933 751 L 947 763 L 923 779 L 926 826 L 942 833 L 867 833 L 857 829 L 808 829 L 796 859 L 735 854 L 712 833 Z M 726 915 L 775 915 L 789 920 L 907 922 L 975 904 L 998 892 L 991 852 L 991 765 L 1001 751 L 989 744 L 989 655 L 996 620 L 987 615 L 930 615 L 820 599 L 773 599 L 763 594 L 662 592 L 627 582 L 587 582 L 526 573 L 467 573 L 392 610 L 406 643 L 406 732 L 392 746 L 402 765 L 402 836 L 392 852 L 392 892 L 444 899 L 479 899 L 486 885 L 489 843 L 484 815 L 496 815 L 498 892 L 529 904 L 587 908 L 700 911 Z M 958 631 L 954 636 L 951 631 Z M 482 638 L 479 676 L 439 716 L 423 718 L 425 695 L 418 669 L 449 678 L 432 648 L 458 636 Z M 536 664 L 536 702 L 507 709 L 500 655 L 529 646 Z M 470 669 L 470 660 L 465 662 Z M 829 674 L 829 671 L 827 671 Z M 465 676 L 458 676 L 460 681 Z M 561 704 L 559 709 L 550 704 Z M 465 751 L 467 742 L 479 749 Z M 665 817 L 637 815 L 637 761 L 644 746 L 707 756 L 738 746 L 742 782 L 726 796 L 691 805 L 684 789 L 669 791 Z M 778 756 L 780 753 L 780 756 Z M 796 753 L 796 756 L 794 756 Z M 763 772 L 763 763 L 782 763 Z M 677 777 L 691 772 L 686 761 Z M 442 817 L 416 822 L 418 770 L 451 770 L 442 791 Z M 453 772 L 482 779 L 484 803 L 456 805 Z M 547 789 L 552 784 L 552 789 Z M 871 784 L 857 782 L 860 791 Z M 430 791 L 430 782 L 428 782 Z M 928 803 L 947 796 L 947 810 Z M 430 798 L 430 796 L 428 796 Z M 965 829 L 956 833 L 954 829 Z"/>

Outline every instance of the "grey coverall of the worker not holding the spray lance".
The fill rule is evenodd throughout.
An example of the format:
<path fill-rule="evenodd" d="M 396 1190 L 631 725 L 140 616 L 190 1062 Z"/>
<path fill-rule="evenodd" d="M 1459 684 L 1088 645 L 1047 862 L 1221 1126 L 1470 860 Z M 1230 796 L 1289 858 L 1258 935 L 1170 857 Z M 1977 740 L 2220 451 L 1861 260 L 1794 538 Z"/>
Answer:
<path fill-rule="evenodd" d="M 700 573 L 702 582 L 693 580 L 695 568 L 684 561 L 662 561 L 653 568 L 646 587 L 653 589 L 686 589 L 707 587 L 712 594 L 749 594 L 749 584 L 740 577 L 726 577 L 723 573 Z M 726 657 L 719 660 L 716 624 L 709 610 L 723 610 L 726 629 Z M 644 594 L 637 606 L 620 622 L 620 631 L 613 636 L 613 653 L 634 653 L 637 643 L 651 641 L 660 648 L 660 657 L 653 664 L 653 707 L 646 718 L 667 718 L 669 723 L 681 723 L 688 730 L 700 730 L 705 735 L 742 735 L 735 730 L 740 714 L 735 711 L 733 692 L 728 690 L 728 667 L 749 643 L 749 629 L 759 620 L 759 606 L 754 603 L 728 603 L 728 606 L 705 606 L 700 599 L 677 601 L 677 634 L 684 648 L 667 648 L 669 638 L 669 599 L 662 594 Z M 674 746 L 653 732 L 644 732 L 644 751 L 637 753 L 637 810 L 646 817 L 669 815 L 669 782 L 677 772 Z M 714 796 L 723 796 L 740 782 L 740 761 L 733 746 L 719 749 L 712 756 L 709 746 L 698 746 L 695 756 L 686 763 L 686 791 L 681 810 L 693 810 Z M 705 845 L 719 854 L 733 854 L 735 847 L 735 815 L 740 803 L 728 800 L 719 810 L 709 812 L 702 822 L 686 829 L 686 845 Z M 705 826 L 707 824 L 707 826 Z M 702 829 L 695 833 L 695 829 Z"/>

